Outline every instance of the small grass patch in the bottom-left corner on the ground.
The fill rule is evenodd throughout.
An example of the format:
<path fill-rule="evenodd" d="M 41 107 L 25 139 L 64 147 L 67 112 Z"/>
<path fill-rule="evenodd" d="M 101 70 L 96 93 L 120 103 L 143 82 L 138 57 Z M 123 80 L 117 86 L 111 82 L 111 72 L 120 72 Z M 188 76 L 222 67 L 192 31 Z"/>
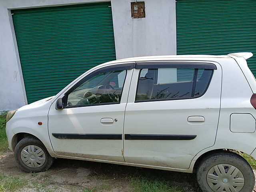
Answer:
<path fill-rule="evenodd" d="M 25 186 L 28 182 L 14 176 L 5 176 L 0 173 L 0 191 L 14 191 Z"/>

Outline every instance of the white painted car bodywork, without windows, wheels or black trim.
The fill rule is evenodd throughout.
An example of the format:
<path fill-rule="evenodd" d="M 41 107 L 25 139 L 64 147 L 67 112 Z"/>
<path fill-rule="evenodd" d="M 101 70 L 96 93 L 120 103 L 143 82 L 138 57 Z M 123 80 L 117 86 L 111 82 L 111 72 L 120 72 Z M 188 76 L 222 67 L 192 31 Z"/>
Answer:
<path fill-rule="evenodd" d="M 210 62 L 217 66 L 217 70 L 214 70 L 208 90 L 199 98 L 134 103 L 139 70 L 132 69 L 127 70 L 120 104 L 55 109 L 56 100 L 91 72 L 104 66 L 143 61 Z M 11 150 L 15 147 L 13 140 L 16 134 L 28 133 L 40 139 L 53 157 L 192 172 L 196 160 L 212 150 L 239 150 L 256 159 L 256 133 L 230 131 L 231 114 L 250 114 L 256 118 L 256 110 L 250 103 L 255 93 L 256 80 L 243 57 L 179 55 L 128 58 L 96 66 L 56 96 L 18 109 L 6 124 L 6 133 Z M 190 116 L 204 117 L 204 121 L 188 122 Z M 118 121 L 114 126 L 102 125 L 102 118 L 117 118 Z M 84 124 L 86 126 L 81 126 Z M 96 125 L 98 130 L 93 129 Z M 81 141 L 60 140 L 52 136 L 52 133 L 60 132 L 122 134 L 123 139 Z M 124 134 L 131 133 L 196 135 L 196 138 L 188 141 L 124 140 Z"/>

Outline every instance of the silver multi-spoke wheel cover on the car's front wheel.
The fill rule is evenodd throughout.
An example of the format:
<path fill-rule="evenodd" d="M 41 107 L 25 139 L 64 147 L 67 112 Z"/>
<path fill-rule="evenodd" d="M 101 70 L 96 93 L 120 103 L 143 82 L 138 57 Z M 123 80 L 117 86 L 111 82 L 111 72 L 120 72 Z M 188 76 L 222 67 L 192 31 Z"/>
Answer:
<path fill-rule="evenodd" d="M 44 151 L 35 145 L 24 147 L 20 153 L 22 162 L 30 168 L 42 166 L 46 160 Z"/>

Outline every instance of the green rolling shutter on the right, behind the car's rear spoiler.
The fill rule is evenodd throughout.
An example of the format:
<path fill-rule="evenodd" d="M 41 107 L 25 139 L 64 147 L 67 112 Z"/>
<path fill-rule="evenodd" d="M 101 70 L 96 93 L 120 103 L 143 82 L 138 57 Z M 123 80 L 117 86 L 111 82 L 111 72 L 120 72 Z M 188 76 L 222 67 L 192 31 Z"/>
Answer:
<path fill-rule="evenodd" d="M 177 54 L 252 52 L 256 76 L 255 0 L 177 0 Z"/>

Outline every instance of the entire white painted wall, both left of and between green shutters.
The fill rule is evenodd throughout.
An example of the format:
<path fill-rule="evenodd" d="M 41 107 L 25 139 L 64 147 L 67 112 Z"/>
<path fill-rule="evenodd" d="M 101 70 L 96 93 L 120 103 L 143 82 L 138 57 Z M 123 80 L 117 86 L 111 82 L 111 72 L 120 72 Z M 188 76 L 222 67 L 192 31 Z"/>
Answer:
<path fill-rule="evenodd" d="M 141 19 L 131 18 L 132 1 L 111 0 L 116 58 L 176 54 L 175 0 L 144 0 Z M 0 0 L 0 111 L 27 103 L 10 10 L 84 2 L 98 0 Z"/>

